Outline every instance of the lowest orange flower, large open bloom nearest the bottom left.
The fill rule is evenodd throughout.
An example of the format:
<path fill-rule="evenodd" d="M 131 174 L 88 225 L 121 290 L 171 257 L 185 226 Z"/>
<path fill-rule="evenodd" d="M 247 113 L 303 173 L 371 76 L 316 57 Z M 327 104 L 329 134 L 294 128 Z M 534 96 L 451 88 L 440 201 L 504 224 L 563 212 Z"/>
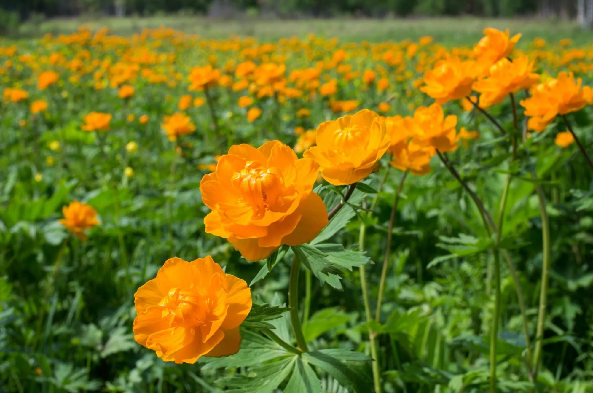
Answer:
<path fill-rule="evenodd" d="M 251 290 L 210 256 L 192 262 L 171 258 L 136 291 L 134 305 L 138 344 L 165 362 L 195 363 L 239 351 Z"/>

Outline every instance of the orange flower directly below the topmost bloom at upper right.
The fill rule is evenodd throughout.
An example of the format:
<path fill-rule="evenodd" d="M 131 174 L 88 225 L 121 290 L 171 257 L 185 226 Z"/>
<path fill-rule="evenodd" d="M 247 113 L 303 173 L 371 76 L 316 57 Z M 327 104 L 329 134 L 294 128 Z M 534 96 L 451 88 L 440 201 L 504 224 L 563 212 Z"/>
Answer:
<path fill-rule="evenodd" d="M 540 75 L 531 72 L 533 62 L 527 56 L 521 56 L 512 62 L 500 59 L 490 67 L 488 77 L 474 82 L 473 89 L 480 94 L 480 107 L 487 108 L 503 102 L 510 93 L 529 88 L 540 79 Z"/>

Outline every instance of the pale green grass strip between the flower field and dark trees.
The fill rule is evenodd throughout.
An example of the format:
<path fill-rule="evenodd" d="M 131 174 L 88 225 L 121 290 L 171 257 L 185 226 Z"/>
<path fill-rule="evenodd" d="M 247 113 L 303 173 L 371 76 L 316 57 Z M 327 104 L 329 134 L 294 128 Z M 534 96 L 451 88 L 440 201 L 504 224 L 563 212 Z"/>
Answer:
<path fill-rule="evenodd" d="M 109 27 L 114 33 L 129 35 L 143 28 L 171 26 L 186 33 L 195 33 L 212 39 L 222 39 L 237 34 L 254 36 L 262 40 L 278 40 L 282 37 L 305 37 L 309 33 L 319 36 L 338 37 L 347 41 L 417 39 L 433 36 L 444 45 L 463 45 L 476 42 L 485 27 L 508 28 L 512 33 L 521 32 L 523 44 L 535 37 L 551 42 L 560 37 L 574 40 L 575 44 L 586 44 L 593 39 L 591 31 L 582 30 L 576 22 L 567 20 L 508 19 L 476 17 L 438 17 L 438 18 L 384 18 L 384 19 L 302 19 L 302 20 L 264 20 L 261 18 L 241 18 L 235 20 L 213 20 L 200 16 L 160 16 L 160 17 L 101 17 L 101 18 L 56 18 L 41 24 L 24 23 L 20 33 L 35 36 L 44 33 L 70 33 L 81 25 L 91 28 Z M 553 24 L 554 28 L 550 29 Z"/>

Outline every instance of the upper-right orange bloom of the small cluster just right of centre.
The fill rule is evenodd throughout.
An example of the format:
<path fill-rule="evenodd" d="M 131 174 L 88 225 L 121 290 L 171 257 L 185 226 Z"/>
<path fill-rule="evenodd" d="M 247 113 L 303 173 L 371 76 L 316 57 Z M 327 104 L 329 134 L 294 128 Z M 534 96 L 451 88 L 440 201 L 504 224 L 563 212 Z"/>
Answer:
<path fill-rule="evenodd" d="M 441 152 L 455 151 L 459 147 L 455 130 L 457 116 L 449 115 L 445 118 L 439 104 L 418 107 L 414 117 L 406 118 L 404 122 L 419 144 L 432 146 Z"/>

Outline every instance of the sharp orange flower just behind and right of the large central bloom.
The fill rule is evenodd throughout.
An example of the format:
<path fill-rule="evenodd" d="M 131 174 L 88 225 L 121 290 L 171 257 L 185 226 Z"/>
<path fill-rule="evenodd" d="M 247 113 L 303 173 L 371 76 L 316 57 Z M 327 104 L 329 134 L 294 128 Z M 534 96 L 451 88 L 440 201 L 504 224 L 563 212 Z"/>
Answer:
<path fill-rule="evenodd" d="M 368 176 L 389 147 L 385 121 L 372 110 L 321 123 L 317 146 L 303 157 L 321 166 L 321 175 L 333 185 L 347 185 Z"/>

